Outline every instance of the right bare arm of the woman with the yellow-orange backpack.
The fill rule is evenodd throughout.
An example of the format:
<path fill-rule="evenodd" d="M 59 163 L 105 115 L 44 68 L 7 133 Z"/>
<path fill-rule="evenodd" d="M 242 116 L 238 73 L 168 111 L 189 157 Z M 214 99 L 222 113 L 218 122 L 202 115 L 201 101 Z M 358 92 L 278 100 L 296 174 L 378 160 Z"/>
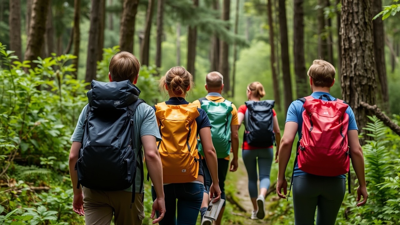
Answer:
<path fill-rule="evenodd" d="M 204 157 L 206 158 L 207 167 L 210 171 L 212 184 L 210 187 L 210 197 L 214 196 L 214 202 L 218 201 L 221 198 L 221 190 L 218 185 L 218 162 L 217 162 L 217 154 L 214 149 L 214 145 L 212 145 L 211 139 L 211 128 L 203 127 L 199 132 L 200 140 L 203 147 Z"/>

